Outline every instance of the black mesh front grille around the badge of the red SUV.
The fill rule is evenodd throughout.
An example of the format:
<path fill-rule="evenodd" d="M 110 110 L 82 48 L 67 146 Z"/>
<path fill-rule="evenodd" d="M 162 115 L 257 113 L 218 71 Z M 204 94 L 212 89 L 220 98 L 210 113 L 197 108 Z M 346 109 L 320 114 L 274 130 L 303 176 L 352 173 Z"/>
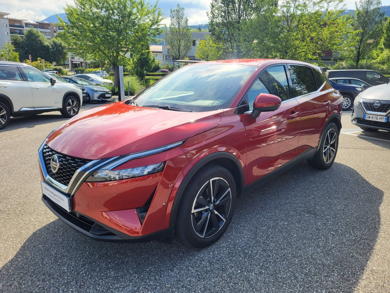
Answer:
<path fill-rule="evenodd" d="M 90 160 L 80 159 L 71 157 L 68 155 L 61 154 L 49 146 L 43 146 L 42 150 L 43 160 L 45 162 L 46 171 L 51 178 L 58 181 L 59 183 L 68 186 L 73 174 L 85 164 L 91 162 Z M 53 155 L 57 155 L 59 158 L 59 169 L 56 173 L 52 171 L 50 167 L 50 160 Z"/>

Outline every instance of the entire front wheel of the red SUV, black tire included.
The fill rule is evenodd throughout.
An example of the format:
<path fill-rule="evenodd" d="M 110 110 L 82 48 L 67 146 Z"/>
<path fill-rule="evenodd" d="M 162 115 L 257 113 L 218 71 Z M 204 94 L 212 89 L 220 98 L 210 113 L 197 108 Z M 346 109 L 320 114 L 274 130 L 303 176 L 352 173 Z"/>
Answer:
<path fill-rule="evenodd" d="M 211 196 L 210 182 L 214 190 Z M 217 241 L 233 218 L 236 188 L 232 174 L 219 165 L 201 168 L 183 192 L 175 234 L 184 244 L 205 248 Z"/>

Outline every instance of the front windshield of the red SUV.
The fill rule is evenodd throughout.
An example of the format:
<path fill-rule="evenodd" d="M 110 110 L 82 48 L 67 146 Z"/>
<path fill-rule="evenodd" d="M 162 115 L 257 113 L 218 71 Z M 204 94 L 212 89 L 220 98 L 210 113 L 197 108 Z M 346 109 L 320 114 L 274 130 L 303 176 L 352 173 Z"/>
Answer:
<path fill-rule="evenodd" d="M 138 106 L 178 107 L 195 112 L 228 108 L 257 66 L 196 64 L 184 66 L 139 94 Z"/>

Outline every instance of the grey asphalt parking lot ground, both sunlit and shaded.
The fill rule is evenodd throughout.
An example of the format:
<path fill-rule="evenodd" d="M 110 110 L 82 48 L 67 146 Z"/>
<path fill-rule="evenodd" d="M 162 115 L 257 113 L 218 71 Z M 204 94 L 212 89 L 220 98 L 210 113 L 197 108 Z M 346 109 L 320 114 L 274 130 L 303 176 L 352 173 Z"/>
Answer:
<path fill-rule="evenodd" d="M 62 223 L 41 201 L 38 147 L 66 119 L 13 118 L 0 131 L 0 292 L 390 292 L 390 132 L 350 117 L 330 169 L 304 162 L 240 197 L 204 250 L 102 243 Z"/>

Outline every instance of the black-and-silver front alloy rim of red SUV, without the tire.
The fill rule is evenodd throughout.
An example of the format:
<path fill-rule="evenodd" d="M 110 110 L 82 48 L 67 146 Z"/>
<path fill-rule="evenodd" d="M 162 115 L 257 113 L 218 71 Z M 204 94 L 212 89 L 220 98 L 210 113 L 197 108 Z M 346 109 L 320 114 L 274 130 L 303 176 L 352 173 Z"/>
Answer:
<path fill-rule="evenodd" d="M 225 179 L 215 177 L 196 194 L 191 211 L 192 227 L 201 238 L 214 236 L 225 224 L 232 204 L 232 191 Z"/>

